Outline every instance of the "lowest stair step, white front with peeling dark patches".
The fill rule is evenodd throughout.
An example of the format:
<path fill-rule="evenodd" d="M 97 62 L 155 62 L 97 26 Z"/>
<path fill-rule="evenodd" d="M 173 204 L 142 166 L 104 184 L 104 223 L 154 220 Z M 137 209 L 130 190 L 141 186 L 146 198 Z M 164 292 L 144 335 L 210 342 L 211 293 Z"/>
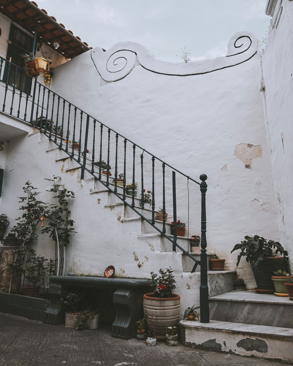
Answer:
<path fill-rule="evenodd" d="M 262 313 L 266 316 L 265 311 Z M 229 362 L 226 365 L 237 363 L 233 362 L 233 355 L 293 363 L 293 329 L 290 328 L 217 320 L 211 320 L 209 323 L 181 320 L 180 326 L 182 344 L 229 353 Z M 213 365 L 219 365 L 216 355 L 213 362 Z M 247 359 L 246 363 L 243 362 L 243 365 L 250 365 L 252 358 Z M 256 363 L 254 361 L 253 365 Z"/>

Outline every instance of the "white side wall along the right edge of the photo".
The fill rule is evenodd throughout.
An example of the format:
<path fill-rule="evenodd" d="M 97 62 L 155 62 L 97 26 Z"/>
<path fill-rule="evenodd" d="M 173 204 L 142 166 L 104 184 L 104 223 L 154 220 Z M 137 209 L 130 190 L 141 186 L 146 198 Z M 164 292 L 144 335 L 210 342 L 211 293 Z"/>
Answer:
<path fill-rule="evenodd" d="M 273 3 L 270 1 L 270 3 Z M 269 15 L 269 14 L 268 14 Z M 262 57 L 267 105 L 267 135 L 271 147 L 274 202 L 277 203 L 279 236 L 292 247 L 292 92 L 293 1 L 278 0 L 273 11 L 267 47 Z"/>

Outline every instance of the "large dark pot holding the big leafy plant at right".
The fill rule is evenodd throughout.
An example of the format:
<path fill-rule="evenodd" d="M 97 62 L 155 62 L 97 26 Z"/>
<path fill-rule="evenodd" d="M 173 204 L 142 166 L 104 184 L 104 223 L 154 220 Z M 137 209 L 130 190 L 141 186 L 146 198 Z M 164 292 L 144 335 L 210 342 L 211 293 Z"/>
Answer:
<path fill-rule="evenodd" d="M 275 292 L 272 281 L 274 272 L 284 268 L 285 257 L 265 257 L 257 267 L 252 267 L 257 290 L 270 290 Z"/>

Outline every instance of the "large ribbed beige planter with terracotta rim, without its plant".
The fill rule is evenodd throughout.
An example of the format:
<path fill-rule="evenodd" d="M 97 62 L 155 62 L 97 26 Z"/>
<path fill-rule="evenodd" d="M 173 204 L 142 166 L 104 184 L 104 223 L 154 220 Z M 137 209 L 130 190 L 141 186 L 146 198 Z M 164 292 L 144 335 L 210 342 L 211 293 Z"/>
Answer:
<path fill-rule="evenodd" d="M 157 339 L 166 339 L 167 326 L 178 324 L 180 296 L 154 298 L 153 292 L 144 294 L 144 313 L 147 314 L 148 329 L 156 333 Z"/>

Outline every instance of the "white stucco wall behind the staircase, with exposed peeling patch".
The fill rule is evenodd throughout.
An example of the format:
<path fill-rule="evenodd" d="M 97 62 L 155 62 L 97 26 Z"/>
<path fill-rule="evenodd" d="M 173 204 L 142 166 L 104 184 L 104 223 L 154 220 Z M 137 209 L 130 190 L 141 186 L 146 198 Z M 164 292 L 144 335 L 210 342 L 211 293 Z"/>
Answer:
<path fill-rule="evenodd" d="M 100 49 L 56 68 L 53 90 L 192 178 L 207 174 L 208 250 L 225 257 L 226 268 L 231 269 L 237 253 L 230 255 L 230 251 L 244 240 L 244 235 L 279 240 L 259 92 L 260 57 L 255 55 L 237 66 L 190 76 L 162 75 L 136 66 L 124 78 L 107 83 L 93 65 L 93 52 Z M 146 60 L 140 60 L 139 55 L 137 58 L 136 64 Z M 205 67 L 204 61 L 200 61 L 200 70 Z M 176 63 L 159 67 L 173 70 Z M 184 67 L 189 65 L 179 67 L 184 74 Z M 177 217 L 186 223 L 184 184 L 181 199 L 177 198 Z M 192 187 L 192 234 L 200 233 L 198 189 Z M 240 275 L 243 271 L 248 271 L 245 277 L 253 286 L 246 262 L 240 264 Z"/>

